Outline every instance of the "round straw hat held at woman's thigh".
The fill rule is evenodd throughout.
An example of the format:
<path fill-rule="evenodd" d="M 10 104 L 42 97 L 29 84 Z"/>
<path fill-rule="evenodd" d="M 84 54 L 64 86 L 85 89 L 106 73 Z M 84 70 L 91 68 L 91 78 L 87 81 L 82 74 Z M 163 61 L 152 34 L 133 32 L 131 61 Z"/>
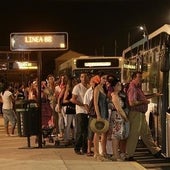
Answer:
<path fill-rule="evenodd" d="M 90 122 L 90 128 L 95 133 L 105 133 L 109 129 L 109 122 L 105 119 L 92 119 Z"/>

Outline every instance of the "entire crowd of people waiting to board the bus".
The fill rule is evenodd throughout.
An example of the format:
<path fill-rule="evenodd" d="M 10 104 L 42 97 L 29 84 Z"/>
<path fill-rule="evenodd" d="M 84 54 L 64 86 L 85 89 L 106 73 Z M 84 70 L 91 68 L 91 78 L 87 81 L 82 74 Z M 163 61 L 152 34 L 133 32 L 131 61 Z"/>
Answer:
<path fill-rule="evenodd" d="M 60 140 L 74 141 L 75 154 L 96 160 L 134 161 L 139 137 L 155 157 L 161 157 L 145 118 L 148 98 L 159 94 L 145 96 L 141 84 L 141 72 L 132 75 L 128 88 L 105 73 L 81 73 L 79 78 L 50 74 L 41 82 L 42 126 L 53 126 Z M 0 101 L 7 136 L 15 134 L 14 105 L 21 98 L 38 101 L 37 79 L 28 86 L 4 84 Z"/>

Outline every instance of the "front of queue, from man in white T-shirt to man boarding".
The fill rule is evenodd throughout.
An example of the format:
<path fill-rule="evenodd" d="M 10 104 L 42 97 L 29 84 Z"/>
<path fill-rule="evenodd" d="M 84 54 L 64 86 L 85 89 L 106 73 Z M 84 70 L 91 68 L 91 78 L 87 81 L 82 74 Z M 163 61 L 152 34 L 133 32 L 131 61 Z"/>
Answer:
<path fill-rule="evenodd" d="M 149 103 L 147 99 L 160 94 L 146 97 L 141 83 L 142 73 L 135 72 L 127 91 L 124 91 L 116 77 L 100 74 L 90 79 L 90 87 L 88 75 L 80 74 L 80 83 L 74 86 L 71 98 L 71 102 L 76 105 L 76 154 L 87 154 L 100 161 L 134 161 L 137 141 L 141 136 L 151 153 L 156 158 L 162 157 L 144 114 Z M 95 112 L 93 115 L 90 115 L 91 99 Z M 111 141 L 112 151 L 108 149 L 108 141 Z"/>

